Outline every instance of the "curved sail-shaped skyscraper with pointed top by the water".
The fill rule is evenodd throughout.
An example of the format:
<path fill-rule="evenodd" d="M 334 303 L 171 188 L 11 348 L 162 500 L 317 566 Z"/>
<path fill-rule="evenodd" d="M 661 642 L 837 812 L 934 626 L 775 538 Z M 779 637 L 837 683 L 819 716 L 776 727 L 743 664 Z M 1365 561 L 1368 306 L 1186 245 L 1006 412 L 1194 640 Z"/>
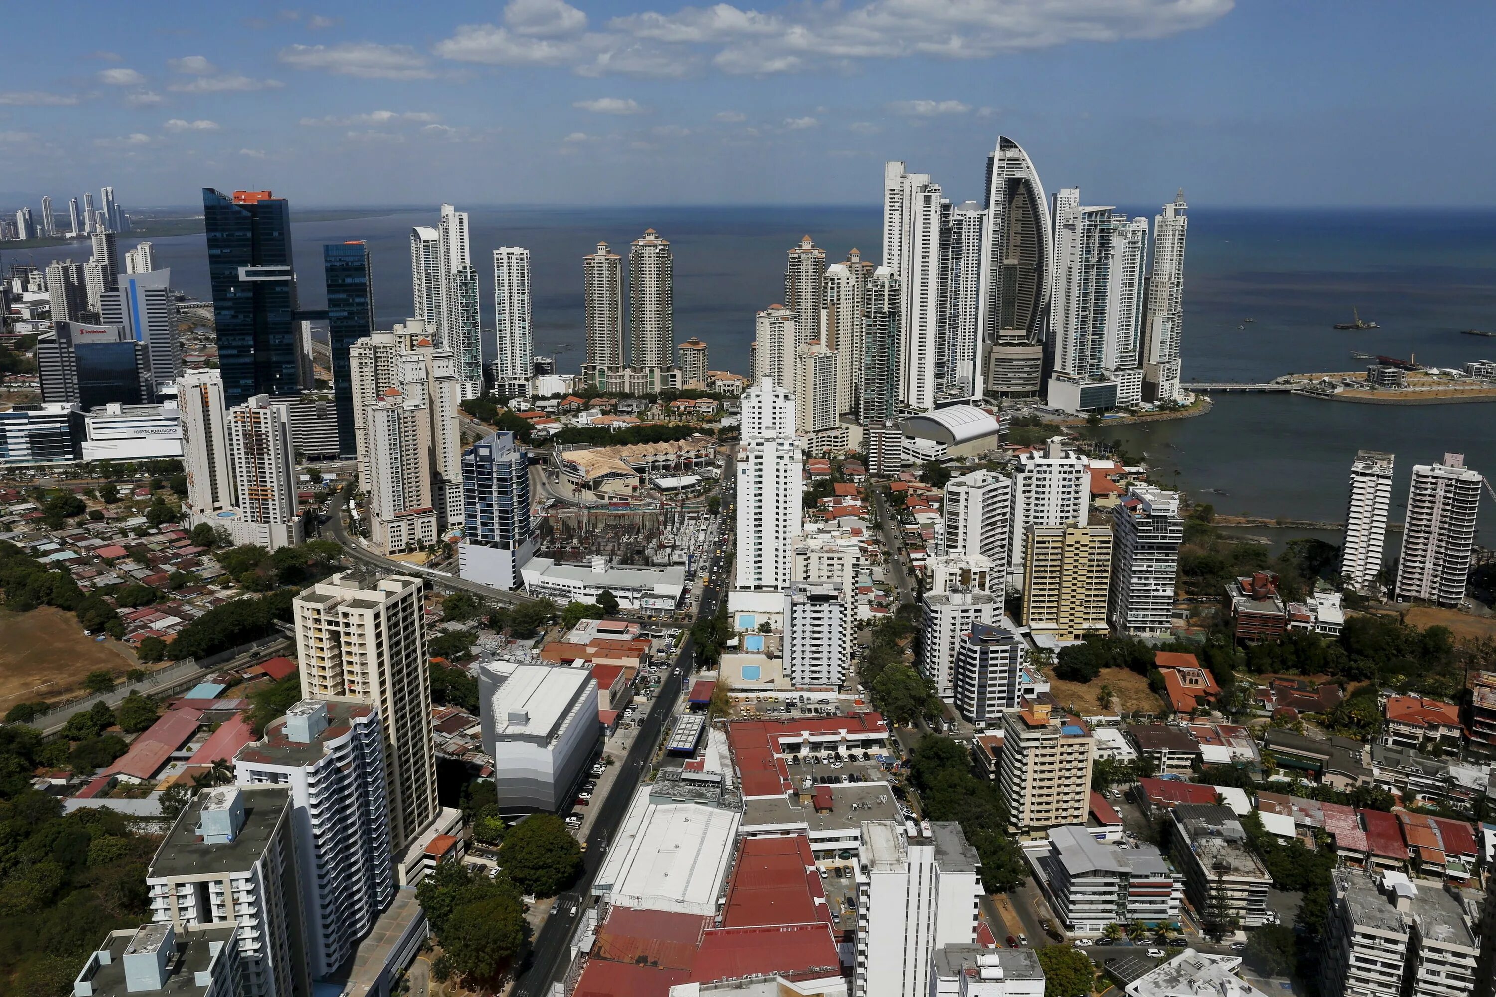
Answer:
<path fill-rule="evenodd" d="M 983 389 L 995 398 L 1035 396 L 1049 329 L 1053 226 L 1038 170 L 1005 135 L 987 157 L 981 254 Z"/>

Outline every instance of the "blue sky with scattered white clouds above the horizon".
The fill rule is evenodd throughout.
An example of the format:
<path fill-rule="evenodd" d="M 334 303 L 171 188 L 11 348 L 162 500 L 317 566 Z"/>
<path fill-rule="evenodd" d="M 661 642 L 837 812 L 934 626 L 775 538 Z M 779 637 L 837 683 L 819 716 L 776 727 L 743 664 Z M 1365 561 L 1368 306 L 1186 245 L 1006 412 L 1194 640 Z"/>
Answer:
<path fill-rule="evenodd" d="M 875 205 L 884 160 L 959 202 L 999 133 L 1088 203 L 1496 205 L 1493 36 L 1456 1 L 18 1 L 0 209 Z"/>

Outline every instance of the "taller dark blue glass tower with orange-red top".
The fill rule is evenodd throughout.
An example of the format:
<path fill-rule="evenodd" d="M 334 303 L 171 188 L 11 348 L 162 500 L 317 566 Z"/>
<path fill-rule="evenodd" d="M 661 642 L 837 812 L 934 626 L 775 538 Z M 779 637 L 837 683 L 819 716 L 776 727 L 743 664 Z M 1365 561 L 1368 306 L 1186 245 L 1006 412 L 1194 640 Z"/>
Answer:
<path fill-rule="evenodd" d="M 236 190 L 230 197 L 203 187 L 202 209 L 224 402 L 296 395 L 301 330 L 290 205 L 268 190 Z"/>

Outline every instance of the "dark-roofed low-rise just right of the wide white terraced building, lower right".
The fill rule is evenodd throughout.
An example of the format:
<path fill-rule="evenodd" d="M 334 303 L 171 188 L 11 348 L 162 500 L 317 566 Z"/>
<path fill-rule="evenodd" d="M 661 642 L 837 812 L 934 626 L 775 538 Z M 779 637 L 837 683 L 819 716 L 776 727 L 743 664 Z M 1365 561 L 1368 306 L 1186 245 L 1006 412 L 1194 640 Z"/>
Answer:
<path fill-rule="evenodd" d="M 1168 821 L 1170 855 L 1203 925 L 1218 930 L 1269 924 L 1267 889 L 1273 877 L 1246 846 L 1246 831 L 1231 809 L 1180 803 L 1168 812 Z"/>

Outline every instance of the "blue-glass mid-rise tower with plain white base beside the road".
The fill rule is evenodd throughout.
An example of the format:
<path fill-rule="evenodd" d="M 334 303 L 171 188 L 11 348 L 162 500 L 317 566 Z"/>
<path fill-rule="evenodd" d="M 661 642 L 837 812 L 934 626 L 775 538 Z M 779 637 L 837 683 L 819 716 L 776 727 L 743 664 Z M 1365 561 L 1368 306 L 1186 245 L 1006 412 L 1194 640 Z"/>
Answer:
<path fill-rule="evenodd" d="M 530 514 L 530 454 L 515 433 L 495 432 L 462 454 L 462 543 L 458 565 L 468 581 L 513 590 L 536 552 Z"/>

